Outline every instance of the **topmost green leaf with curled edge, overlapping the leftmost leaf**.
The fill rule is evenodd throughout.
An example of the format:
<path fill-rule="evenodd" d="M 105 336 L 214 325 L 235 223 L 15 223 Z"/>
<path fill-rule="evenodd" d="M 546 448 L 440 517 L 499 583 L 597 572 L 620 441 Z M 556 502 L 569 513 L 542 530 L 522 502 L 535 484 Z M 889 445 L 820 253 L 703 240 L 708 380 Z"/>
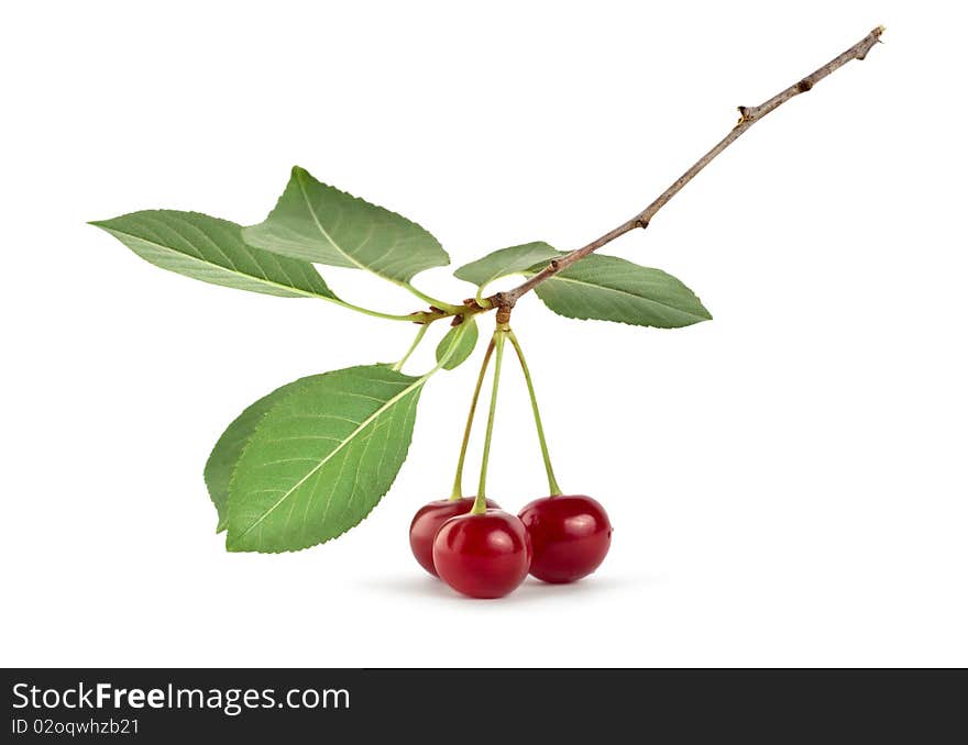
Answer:
<path fill-rule="evenodd" d="M 366 269 L 398 285 L 450 263 L 420 225 L 321 184 L 298 166 L 275 209 L 243 234 L 251 245 L 283 256 Z"/>

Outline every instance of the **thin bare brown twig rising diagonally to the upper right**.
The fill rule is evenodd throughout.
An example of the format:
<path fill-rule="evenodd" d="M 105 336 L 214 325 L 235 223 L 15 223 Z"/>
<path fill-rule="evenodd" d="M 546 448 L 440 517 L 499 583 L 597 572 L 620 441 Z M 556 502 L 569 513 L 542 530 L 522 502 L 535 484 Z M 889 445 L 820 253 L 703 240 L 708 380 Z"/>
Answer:
<path fill-rule="evenodd" d="M 619 235 L 624 235 L 625 233 L 628 233 L 636 227 L 648 227 L 649 222 L 652 220 L 656 213 L 661 210 L 670 199 L 678 194 L 682 187 L 689 184 L 696 174 L 698 174 L 703 168 L 710 165 L 710 163 L 712 163 L 712 160 L 717 155 L 719 155 L 719 153 L 722 153 L 727 147 L 729 147 L 729 145 L 736 142 L 736 140 L 738 140 L 744 132 L 746 132 L 759 120 L 761 120 L 774 109 L 779 108 L 781 104 L 789 101 L 794 96 L 800 96 L 800 93 L 805 93 L 806 91 L 811 90 L 817 82 L 823 80 L 831 73 L 846 65 L 851 59 L 864 59 L 867 56 L 867 53 L 870 52 L 871 47 L 878 43 L 883 31 L 883 26 L 878 26 L 867 36 L 857 42 L 857 44 L 851 46 L 849 49 L 847 49 L 843 54 L 837 55 L 823 67 L 814 70 L 805 78 L 801 78 L 798 82 L 794 82 L 792 86 L 790 86 L 785 90 L 780 91 L 773 98 L 765 101 L 763 103 L 760 103 L 758 107 L 739 107 L 739 121 L 736 123 L 736 126 L 730 130 L 729 134 L 723 137 L 723 140 L 721 140 L 713 147 L 713 149 L 711 149 L 703 157 L 696 160 L 689 170 L 686 170 L 682 176 L 675 179 L 675 181 L 672 182 L 672 186 L 670 186 L 668 189 L 666 189 L 666 191 L 659 194 L 656 200 L 645 210 L 639 212 L 634 218 L 626 220 L 618 227 L 610 230 L 605 233 L 605 235 L 592 241 L 588 245 L 582 246 L 581 248 L 578 248 L 570 254 L 565 254 L 561 258 L 554 259 L 541 271 L 534 275 L 527 281 L 518 285 L 514 289 L 492 294 L 485 301 L 486 307 L 477 304 L 476 301 L 465 301 L 465 308 L 468 309 L 466 312 L 477 313 L 483 310 L 488 310 L 490 308 L 497 308 L 498 313 L 505 319 L 506 322 L 506 319 L 510 315 L 512 308 L 514 308 L 515 303 L 522 294 L 530 292 L 549 277 L 553 277 L 562 269 L 570 267 L 575 262 L 582 260 L 585 256 L 594 253 L 605 244 L 610 243 Z"/>

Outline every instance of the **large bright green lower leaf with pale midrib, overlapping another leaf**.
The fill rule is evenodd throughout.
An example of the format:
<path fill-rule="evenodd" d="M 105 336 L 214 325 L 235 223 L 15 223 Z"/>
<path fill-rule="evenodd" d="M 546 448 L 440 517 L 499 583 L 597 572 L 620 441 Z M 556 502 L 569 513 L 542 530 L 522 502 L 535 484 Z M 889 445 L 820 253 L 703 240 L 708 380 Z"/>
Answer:
<path fill-rule="evenodd" d="M 350 367 L 274 401 L 235 466 L 226 547 L 298 551 L 360 523 L 406 458 L 426 379 Z"/>

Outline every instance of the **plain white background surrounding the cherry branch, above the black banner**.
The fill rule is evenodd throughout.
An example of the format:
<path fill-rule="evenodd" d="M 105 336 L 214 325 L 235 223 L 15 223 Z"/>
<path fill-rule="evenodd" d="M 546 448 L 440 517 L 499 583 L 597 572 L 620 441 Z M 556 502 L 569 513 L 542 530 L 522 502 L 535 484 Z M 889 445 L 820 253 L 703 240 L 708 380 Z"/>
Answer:
<path fill-rule="evenodd" d="M 968 664 L 953 8 L 6 7 L 0 663 Z M 398 357 L 411 329 L 161 271 L 87 220 L 260 222 L 299 164 L 419 221 L 455 265 L 571 248 L 645 207 L 737 104 L 879 23 L 867 62 L 608 247 L 683 279 L 713 322 L 580 323 L 534 297 L 516 311 L 560 480 L 615 524 L 594 577 L 471 601 L 410 557 L 411 514 L 449 489 L 474 364 L 428 387 L 409 460 L 360 527 L 296 554 L 224 552 L 201 479 L 223 426 L 297 377 Z M 419 279 L 470 292 L 447 268 Z M 516 510 L 544 487 L 507 380 L 490 483 Z"/>

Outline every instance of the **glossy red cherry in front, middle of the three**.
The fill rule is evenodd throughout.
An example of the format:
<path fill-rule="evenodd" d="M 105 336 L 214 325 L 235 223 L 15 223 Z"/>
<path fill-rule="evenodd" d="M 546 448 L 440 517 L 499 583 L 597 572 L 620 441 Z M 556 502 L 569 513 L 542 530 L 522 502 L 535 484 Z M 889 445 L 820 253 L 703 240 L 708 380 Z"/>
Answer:
<path fill-rule="evenodd" d="M 440 578 L 472 598 L 502 598 L 525 581 L 531 543 L 524 523 L 502 510 L 448 520 L 433 540 Z"/>

